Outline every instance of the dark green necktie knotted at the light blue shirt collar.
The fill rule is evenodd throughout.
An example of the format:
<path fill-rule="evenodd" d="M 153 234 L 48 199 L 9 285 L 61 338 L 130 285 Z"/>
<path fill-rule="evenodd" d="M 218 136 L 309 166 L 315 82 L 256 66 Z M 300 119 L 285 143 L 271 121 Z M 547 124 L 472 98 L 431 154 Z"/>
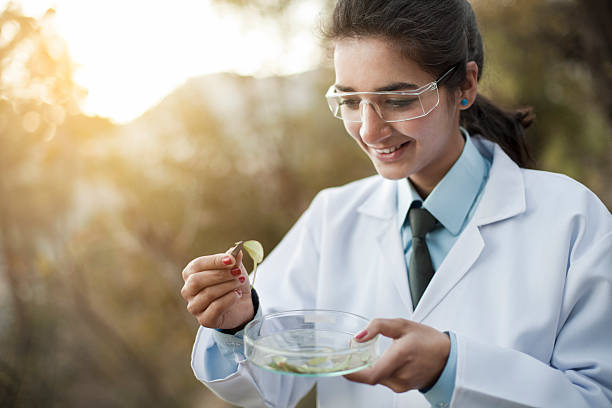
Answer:
<path fill-rule="evenodd" d="M 411 208 L 408 211 L 408 218 L 412 230 L 412 254 L 408 265 L 408 277 L 412 307 L 416 309 L 416 305 L 434 274 L 429 250 L 425 243 L 425 234 L 436 227 L 437 220 L 425 208 Z"/>

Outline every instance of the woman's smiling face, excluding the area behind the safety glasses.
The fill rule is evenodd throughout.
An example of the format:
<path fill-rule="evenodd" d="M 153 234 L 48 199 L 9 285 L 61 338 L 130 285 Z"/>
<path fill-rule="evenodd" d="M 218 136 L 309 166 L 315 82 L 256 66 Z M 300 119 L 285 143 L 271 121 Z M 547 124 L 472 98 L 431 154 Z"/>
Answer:
<path fill-rule="evenodd" d="M 436 80 L 389 42 L 378 38 L 337 41 L 334 66 L 336 86 L 345 91 L 410 90 L 402 89 L 401 84 L 421 87 Z M 440 89 L 439 105 L 427 116 L 386 123 L 371 105 L 365 104 L 362 121 L 345 121 L 344 126 L 382 177 L 410 177 L 421 192 L 428 194 L 463 149 L 459 106 L 449 103 L 446 92 L 446 88 Z"/>

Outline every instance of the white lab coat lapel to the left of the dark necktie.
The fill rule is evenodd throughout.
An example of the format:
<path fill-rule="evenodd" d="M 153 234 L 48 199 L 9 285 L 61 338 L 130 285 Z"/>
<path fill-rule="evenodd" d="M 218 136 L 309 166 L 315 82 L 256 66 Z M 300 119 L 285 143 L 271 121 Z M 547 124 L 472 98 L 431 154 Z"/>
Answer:
<path fill-rule="evenodd" d="M 392 180 L 384 180 L 378 188 L 358 209 L 370 217 L 372 223 L 366 234 L 367 238 L 379 249 L 380 271 L 384 279 L 390 279 L 397 289 L 398 297 L 408 310 L 412 311 L 412 301 L 408 286 L 408 273 L 404 261 L 404 249 L 397 217 L 397 184 Z M 365 237 L 364 237 L 365 238 Z"/>

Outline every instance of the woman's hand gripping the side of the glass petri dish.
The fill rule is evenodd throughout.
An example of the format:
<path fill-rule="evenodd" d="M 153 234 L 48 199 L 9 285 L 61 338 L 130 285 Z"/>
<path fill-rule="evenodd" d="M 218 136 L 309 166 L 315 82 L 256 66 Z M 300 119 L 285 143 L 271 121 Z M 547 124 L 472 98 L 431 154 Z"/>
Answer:
<path fill-rule="evenodd" d="M 372 367 L 345 375 L 346 379 L 382 384 L 395 392 L 429 388 L 436 383 L 450 352 L 447 334 L 410 320 L 374 319 L 355 341 L 362 343 L 377 334 L 392 338 L 393 343 Z"/>

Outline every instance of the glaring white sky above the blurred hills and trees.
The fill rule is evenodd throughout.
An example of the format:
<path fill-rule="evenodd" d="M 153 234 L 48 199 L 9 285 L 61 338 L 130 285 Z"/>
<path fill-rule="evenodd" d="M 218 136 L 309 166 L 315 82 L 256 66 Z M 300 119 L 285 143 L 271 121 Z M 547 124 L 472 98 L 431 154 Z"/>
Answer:
<path fill-rule="evenodd" d="M 0 8 L 8 0 L 0 0 Z M 286 75 L 319 64 L 320 0 L 289 10 L 292 35 L 265 17 L 209 0 L 21 0 L 39 17 L 55 9 L 55 30 L 88 91 L 86 114 L 126 123 L 187 79 L 215 73 Z"/>

